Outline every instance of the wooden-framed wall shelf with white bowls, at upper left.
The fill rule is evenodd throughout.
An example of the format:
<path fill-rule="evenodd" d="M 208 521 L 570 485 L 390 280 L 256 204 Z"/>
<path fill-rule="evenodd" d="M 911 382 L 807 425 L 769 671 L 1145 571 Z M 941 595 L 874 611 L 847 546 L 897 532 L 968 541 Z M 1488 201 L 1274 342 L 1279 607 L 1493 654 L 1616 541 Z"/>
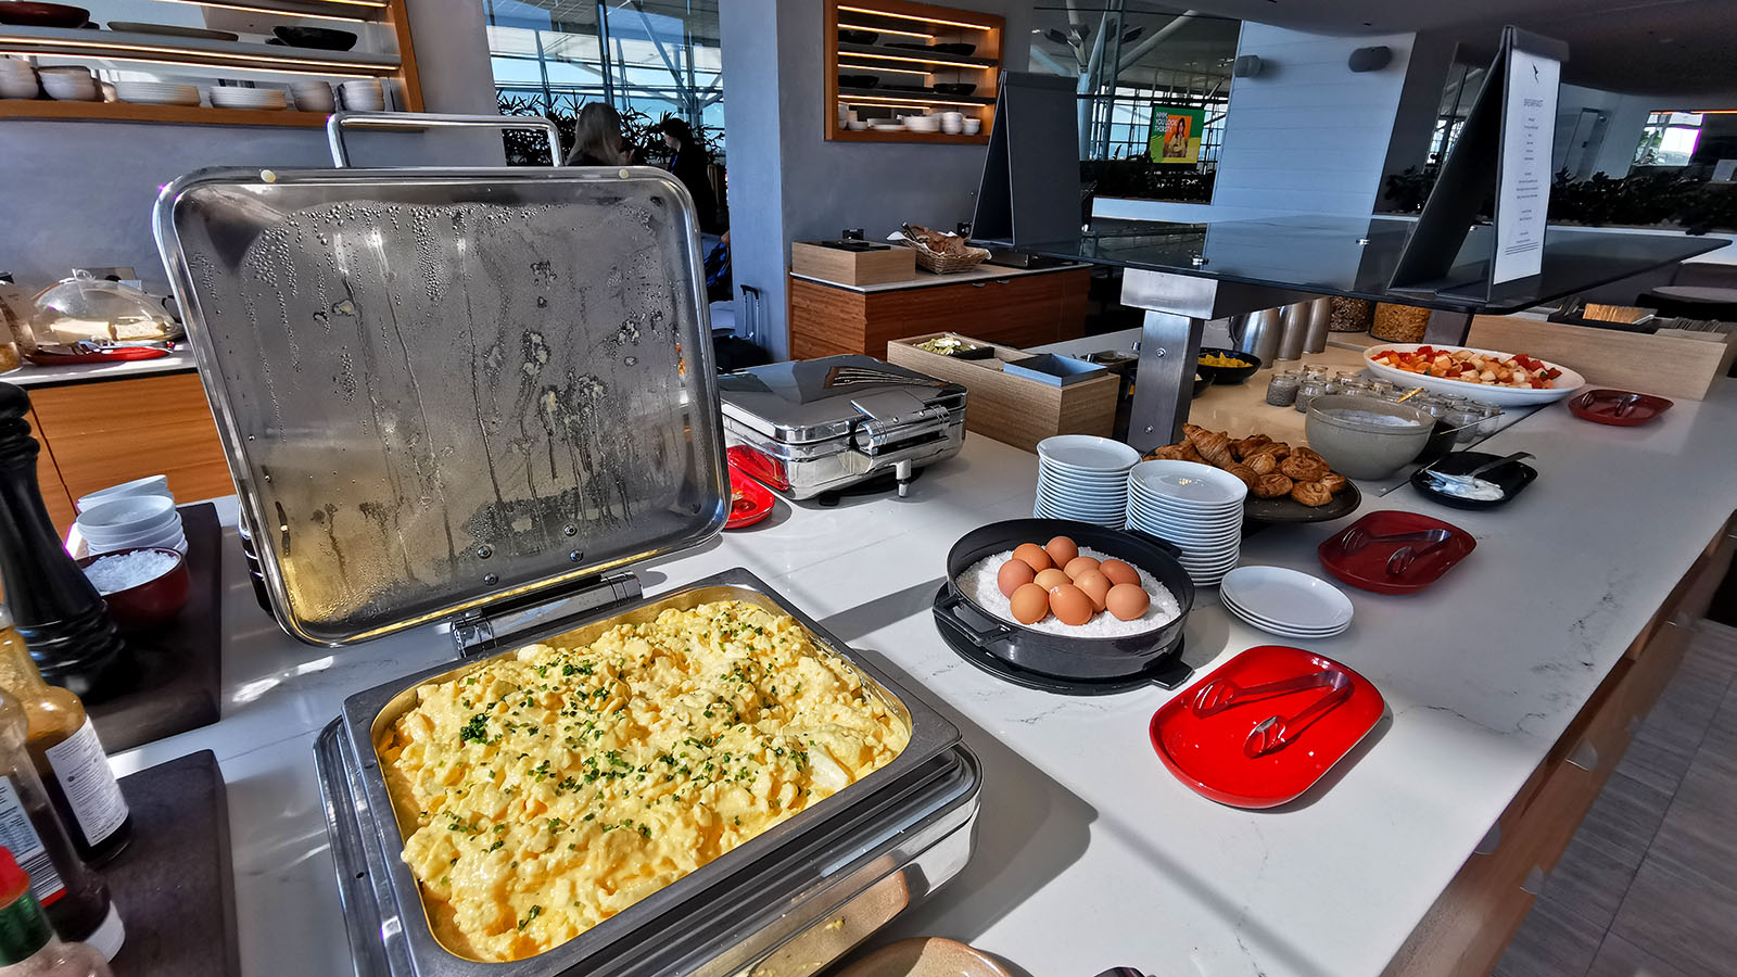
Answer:
<path fill-rule="evenodd" d="M 137 64 L 165 71 L 208 71 L 212 80 L 234 73 L 240 78 L 379 78 L 387 87 L 396 82 L 396 101 L 405 111 L 422 111 L 422 87 L 410 19 L 405 0 L 360 3 L 344 0 L 212 0 L 217 9 L 233 7 L 255 14 L 278 14 L 285 21 L 318 17 L 353 24 L 382 24 L 391 30 L 396 54 L 358 50 L 320 50 L 309 47 L 226 42 L 175 35 L 146 35 L 111 30 L 66 30 L 0 26 L 0 56 L 54 57 L 92 61 L 102 68 Z M 328 24 L 330 26 L 330 24 Z M 54 99 L 0 99 L 0 120 L 49 118 L 85 122 L 160 122 L 175 125 L 287 125 L 323 127 L 320 111 L 273 111 L 207 106 L 163 106 L 141 103 L 76 103 Z"/>

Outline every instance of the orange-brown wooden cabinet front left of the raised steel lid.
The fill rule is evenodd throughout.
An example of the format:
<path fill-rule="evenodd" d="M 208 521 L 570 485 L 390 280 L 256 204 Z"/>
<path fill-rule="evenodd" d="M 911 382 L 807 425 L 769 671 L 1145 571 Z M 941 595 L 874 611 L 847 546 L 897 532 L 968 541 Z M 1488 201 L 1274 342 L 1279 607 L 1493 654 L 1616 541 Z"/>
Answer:
<path fill-rule="evenodd" d="M 40 388 L 31 403 L 71 499 L 146 475 L 182 502 L 234 494 L 198 374 Z"/>

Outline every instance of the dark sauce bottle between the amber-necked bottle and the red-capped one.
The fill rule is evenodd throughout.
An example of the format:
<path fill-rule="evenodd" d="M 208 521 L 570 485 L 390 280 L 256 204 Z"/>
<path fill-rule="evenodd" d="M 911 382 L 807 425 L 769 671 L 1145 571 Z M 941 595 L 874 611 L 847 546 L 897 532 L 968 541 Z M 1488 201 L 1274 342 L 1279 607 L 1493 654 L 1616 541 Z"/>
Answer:
<path fill-rule="evenodd" d="M 30 867 L 30 890 L 54 930 L 64 939 L 85 940 L 113 960 L 127 937 L 120 913 L 102 876 L 78 857 L 66 827 L 49 807 L 49 793 L 24 753 L 28 728 L 17 699 L 0 692 L 0 845 L 9 861 L 23 859 Z"/>

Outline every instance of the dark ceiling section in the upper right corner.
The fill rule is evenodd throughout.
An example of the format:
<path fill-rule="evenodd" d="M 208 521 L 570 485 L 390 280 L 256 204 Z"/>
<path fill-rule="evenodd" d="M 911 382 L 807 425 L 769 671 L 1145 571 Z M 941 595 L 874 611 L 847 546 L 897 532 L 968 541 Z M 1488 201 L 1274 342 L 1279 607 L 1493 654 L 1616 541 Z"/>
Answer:
<path fill-rule="evenodd" d="M 1655 97 L 1661 110 L 1737 108 L 1737 0 L 1185 0 L 1172 9 L 1185 5 L 1320 33 L 1442 31 L 1473 63 L 1515 24 L 1569 43 L 1567 83 Z"/>

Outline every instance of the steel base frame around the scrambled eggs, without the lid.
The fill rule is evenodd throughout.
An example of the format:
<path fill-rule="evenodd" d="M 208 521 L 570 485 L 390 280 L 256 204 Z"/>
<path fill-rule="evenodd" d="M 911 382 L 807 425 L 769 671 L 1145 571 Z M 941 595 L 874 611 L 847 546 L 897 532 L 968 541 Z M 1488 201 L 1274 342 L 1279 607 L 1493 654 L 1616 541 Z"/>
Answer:
<path fill-rule="evenodd" d="M 585 629 L 601 631 L 629 619 L 650 619 L 664 608 L 691 608 L 714 600 L 742 600 L 794 617 L 809 633 L 818 648 L 848 662 L 896 718 L 908 721 L 910 742 L 905 749 L 886 767 L 874 770 L 837 794 L 822 800 L 796 817 L 700 866 L 578 937 L 519 961 L 483 963 L 450 953 L 434 937 L 422 902 L 420 885 L 401 857 L 405 836 L 400 827 L 396 807 L 386 788 L 386 779 L 379 768 L 375 737 L 380 728 L 413 704 L 419 685 L 462 676 L 493 661 L 497 655 L 457 666 L 433 666 L 367 692 L 358 692 L 344 701 L 340 716 L 321 734 L 321 742 L 316 748 L 327 821 L 330 836 L 334 838 L 339 888 L 346 904 L 346 920 L 353 930 L 353 947 L 358 954 L 358 974 L 391 974 L 394 977 L 412 974 L 417 977 L 481 977 L 485 974 L 497 977 L 502 974 L 552 977 L 584 970 L 599 977 L 617 974 L 622 977 L 639 977 L 665 972 L 670 963 L 676 963 L 670 958 L 681 954 L 700 958 L 683 958 L 683 967 L 705 965 L 709 960 L 721 958 L 730 953 L 730 947 L 740 946 L 745 940 L 756 937 L 769 940 L 773 934 L 759 932 L 769 921 L 785 920 L 787 925 L 783 928 L 790 930 L 785 939 L 789 939 L 801 932 L 801 927 L 789 923 L 792 913 L 801 921 L 809 916 L 818 920 L 832 909 L 830 904 L 815 906 L 815 911 L 808 913 L 801 901 L 792 902 L 789 892 L 790 873 L 813 874 L 815 878 L 806 888 L 827 890 L 834 885 L 834 874 L 842 869 L 856 873 L 868 864 L 855 859 L 865 848 L 872 847 L 872 852 L 879 852 L 875 857 L 881 857 L 888 852 L 902 850 L 900 845 L 910 840 L 933 836 L 933 843 L 950 838 L 961 826 L 969 827 L 976 814 L 978 774 L 974 758 L 961 744 L 957 727 L 935 711 L 921 695 L 902 688 L 881 669 L 856 657 L 848 645 L 834 638 L 816 621 L 792 607 L 783 596 L 747 570 L 726 570 L 662 595 L 617 603 L 580 621 L 565 621 L 538 631 L 514 635 L 511 640 L 502 640 L 500 647 L 518 648 L 525 643 L 558 635 Z M 512 650 L 500 654 L 512 654 Z M 968 768 L 964 774 L 959 772 L 961 763 Z M 935 793 L 936 781 L 945 781 L 948 775 L 954 779 L 964 777 L 968 782 L 954 791 L 955 796 L 941 810 L 926 810 L 922 805 L 917 805 L 919 810 L 910 810 L 910 798 L 921 798 L 924 789 Z M 941 793 L 947 796 L 945 791 Z M 905 805 L 903 808 L 900 808 L 902 803 Z M 910 819 L 912 822 L 903 824 L 898 819 Z M 865 836 L 858 838 L 856 833 L 863 833 Z M 360 847 L 360 859 L 358 852 L 342 850 L 353 847 Z M 816 866 L 809 861 L 813 857 L 825 857 L 835 862 L 846 852 L 849 857 L 842 864 Z M 966 857 L 969 857 L 969 831 L 964 834 L 964 852 L 957 859 L 952 859 L 957 864 L 952 866 L 947 876 L 955 873 Z M 764 885 L 768 880 L 761 878 L 761 874 L 780 866 L 783 867 L 783 885 Z M 938 885 L 936 880 L 929 881 Z M 372 887 L 373 892 L 372 913 L 365 885 Z M 735 904 L 733 911 L 736 916 L 745 914 L 763 925 L 747 928 L 743 934 L 728 934 L 735 942 L 723 947 L 717 944 L 719 934 L 712 934 L 712 942 L 705 942 L 700 930 L 705 930 L 710 918 L 697 918 L 693 913 L 695 904 L 721 909 L 723 906 L 731 906 L 728 901 L 719 902 L 724 895 L 731 901 L 740 901 L 756 885 L 769 897 L 759 906 L 749 904 L 743 907 L 743 904 Z M 851 890 L 848 895 L 856 895 L 856 892 L 860 890 Z M 915 902 L 915 897 L 912 901 Z M 379 930 L 375 934 L 356 932 L 354 923 L 361 918 L 358 911 L 377 920 Z M 717 914 L 714 913 L 714 916 Z M 747 921 L 738 920 L 738 923 Z M 676 923 L 681 923 L 683 935 L 670 930 Z M 648 944 L 653 937 L 655 942 Z M 700 940 L 698 946 L 695 946 L 695 940 Z M 370 953 L 370 942 L 384 946 L 384 970 L 363 968 L 363 956 L 375 956 L 370 967 L 382 967 L 377 954 Z M 769 953 L 782 942 L 782 939 L 771 940 L 761 949 Z M 759 956 L 764 956 L 764 953 Z M 752 960 L 747 960 L 745 965 L 752 965 Z M 710 974 L 709 968 L 702 972 Z M 728 975 L 735 972 L 721 970 L 719 974 Z"/>

